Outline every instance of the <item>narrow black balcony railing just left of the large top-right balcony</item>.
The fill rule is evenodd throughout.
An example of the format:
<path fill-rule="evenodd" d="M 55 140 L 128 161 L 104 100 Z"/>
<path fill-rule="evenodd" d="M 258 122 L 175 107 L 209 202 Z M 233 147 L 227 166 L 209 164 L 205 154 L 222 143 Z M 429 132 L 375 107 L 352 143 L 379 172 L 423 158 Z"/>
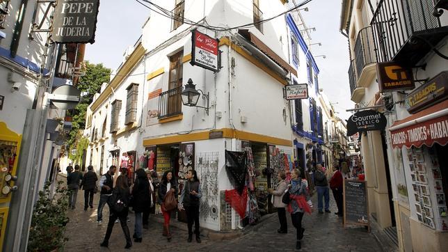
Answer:
<path fill-rule="evenodd" d="M 375 62 L 374 38 L 371 32 L 371 26 L 367 26 L 361 29 L 355 42 L 355 64 L 358 78 L 366 65 Z"/>

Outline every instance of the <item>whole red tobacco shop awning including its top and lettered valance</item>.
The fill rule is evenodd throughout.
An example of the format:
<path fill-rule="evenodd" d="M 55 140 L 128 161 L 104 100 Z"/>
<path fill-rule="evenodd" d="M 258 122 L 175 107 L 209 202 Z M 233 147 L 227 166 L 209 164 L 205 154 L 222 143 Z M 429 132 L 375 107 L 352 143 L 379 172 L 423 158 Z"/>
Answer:
<path fill-rule="evenodd" d="M 389 128 L 392 147 L 420 148 L 448 143 L 448 100 L 395 122 Z"/>

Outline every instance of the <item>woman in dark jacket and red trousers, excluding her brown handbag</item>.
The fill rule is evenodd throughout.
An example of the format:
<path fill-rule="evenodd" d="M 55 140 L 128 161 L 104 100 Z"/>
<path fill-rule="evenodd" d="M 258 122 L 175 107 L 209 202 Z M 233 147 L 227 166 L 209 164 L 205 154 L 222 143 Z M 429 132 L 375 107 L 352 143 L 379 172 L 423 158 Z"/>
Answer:
<path fill-rule="evenodd" d="M 163 236 L 166 236 L 168 242 L 170 242 L 172 237 L 170 233 L 170 219 L 172 211 L 167 211 L 163 207 L 163 202 L 168 191 L 172 191 L 173 194 L 177 196 L 177 183 L 173 178 L 173 172 L 171 171 L 166 171 L 163 173 L 162 180 L 159 184 L 159 204 L 161 205 L 160 208 L 163 214 Z"/>

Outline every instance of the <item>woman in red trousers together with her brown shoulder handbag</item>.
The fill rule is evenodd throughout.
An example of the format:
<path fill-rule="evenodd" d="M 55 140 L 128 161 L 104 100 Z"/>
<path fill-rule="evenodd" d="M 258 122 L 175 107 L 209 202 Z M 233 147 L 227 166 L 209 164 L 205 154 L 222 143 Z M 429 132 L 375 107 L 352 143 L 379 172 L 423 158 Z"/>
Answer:
<path fill-rule="evenodd" d="M 163 214 L 163 236 L 166 236 L 168 242 L 171 241 L 170 219 L 171 212 L 177 207 L 177 183 L 173 178 L 173 172 L 163 173 L 159 185 L 159 204 Z"/>

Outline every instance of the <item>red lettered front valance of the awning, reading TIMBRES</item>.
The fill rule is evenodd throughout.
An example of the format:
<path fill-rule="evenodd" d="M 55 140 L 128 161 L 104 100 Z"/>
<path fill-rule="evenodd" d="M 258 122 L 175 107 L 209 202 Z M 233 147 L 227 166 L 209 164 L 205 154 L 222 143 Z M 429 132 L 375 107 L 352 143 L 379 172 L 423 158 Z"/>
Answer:
<path fill-rule="evenodd" d="M 446 145 L 448 143 L 448 116 L 427 120 L 417 125 L 403 127 L 390 132 L 392 147 L 401 148 L 403 145 L 417 148 L 422 145 L 432 146 L 433 143 Z"/>

